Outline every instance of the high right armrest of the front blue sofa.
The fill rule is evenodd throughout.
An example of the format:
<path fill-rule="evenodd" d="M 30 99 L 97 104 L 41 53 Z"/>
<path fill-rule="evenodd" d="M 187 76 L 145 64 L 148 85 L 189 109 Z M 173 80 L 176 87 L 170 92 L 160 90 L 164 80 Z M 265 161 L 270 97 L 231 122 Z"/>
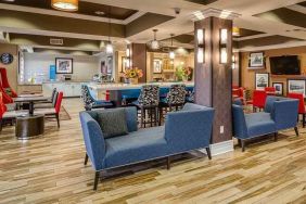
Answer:
<path fill-rule="evenodd" d="M 211 143 L 214 109 L 167 114 L 165 139 L 173 152 L 206 148 Z"/>

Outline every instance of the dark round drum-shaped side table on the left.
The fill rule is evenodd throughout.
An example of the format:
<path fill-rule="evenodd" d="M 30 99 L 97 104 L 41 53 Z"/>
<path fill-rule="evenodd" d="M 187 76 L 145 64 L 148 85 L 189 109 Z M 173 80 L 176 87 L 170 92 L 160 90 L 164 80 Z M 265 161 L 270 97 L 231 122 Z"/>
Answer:
<path fill-rule="evenodd" d="M 25 115 L 16 117 L 16 138 L 27 140 L 44 132 L 44 115 Z"/>

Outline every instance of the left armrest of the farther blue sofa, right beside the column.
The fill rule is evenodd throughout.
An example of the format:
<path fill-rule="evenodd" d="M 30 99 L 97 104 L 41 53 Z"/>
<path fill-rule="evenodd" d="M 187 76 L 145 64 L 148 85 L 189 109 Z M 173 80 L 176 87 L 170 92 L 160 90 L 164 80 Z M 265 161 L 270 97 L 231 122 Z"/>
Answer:
<path fill-rule="evenodd" d="M 243 109 L 240 105 L 232 105 L 233 136 L 240 139 L 247 138 L 246 122 Z"/>

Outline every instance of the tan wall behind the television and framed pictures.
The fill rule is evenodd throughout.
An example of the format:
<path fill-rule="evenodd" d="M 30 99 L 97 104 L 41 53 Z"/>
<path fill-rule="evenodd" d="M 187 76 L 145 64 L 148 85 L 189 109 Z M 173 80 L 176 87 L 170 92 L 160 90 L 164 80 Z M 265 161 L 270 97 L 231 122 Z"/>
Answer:
<path fill-rule="evenodd" d="M 269 56 L 281 56 L 281 55 L 298 55 L 301 61 L 301 73 L 299 76 L 290 75 L 270 75 L 270 86 L 272 82 L 283 82 L 284 93 L 286 93 L 286 80 L 288 78 L 305 77 L 306 78 L 306 47 L 285 48 L 276 50 L 266 50 L 266 68 L 265 69 L 248 69 L 248 55 L 250 52 L 242 53 L 242 86 L 253 90 L 255 88 L 255 73 L 270 73 Z"/>

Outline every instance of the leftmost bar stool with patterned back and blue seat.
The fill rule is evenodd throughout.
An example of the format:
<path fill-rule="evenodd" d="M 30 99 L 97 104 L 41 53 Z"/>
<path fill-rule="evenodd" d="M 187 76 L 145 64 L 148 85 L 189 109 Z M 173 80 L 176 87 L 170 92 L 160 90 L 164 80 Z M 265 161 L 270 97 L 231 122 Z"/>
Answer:
<path fill-rule="evenodd" d="M 112 109 L 115 107 L 114 103 L 106 100 L 95 100 L 89 91 L 87 85 L 81 85 L 81 98 L 86 111 L 93 109 Z"/>

